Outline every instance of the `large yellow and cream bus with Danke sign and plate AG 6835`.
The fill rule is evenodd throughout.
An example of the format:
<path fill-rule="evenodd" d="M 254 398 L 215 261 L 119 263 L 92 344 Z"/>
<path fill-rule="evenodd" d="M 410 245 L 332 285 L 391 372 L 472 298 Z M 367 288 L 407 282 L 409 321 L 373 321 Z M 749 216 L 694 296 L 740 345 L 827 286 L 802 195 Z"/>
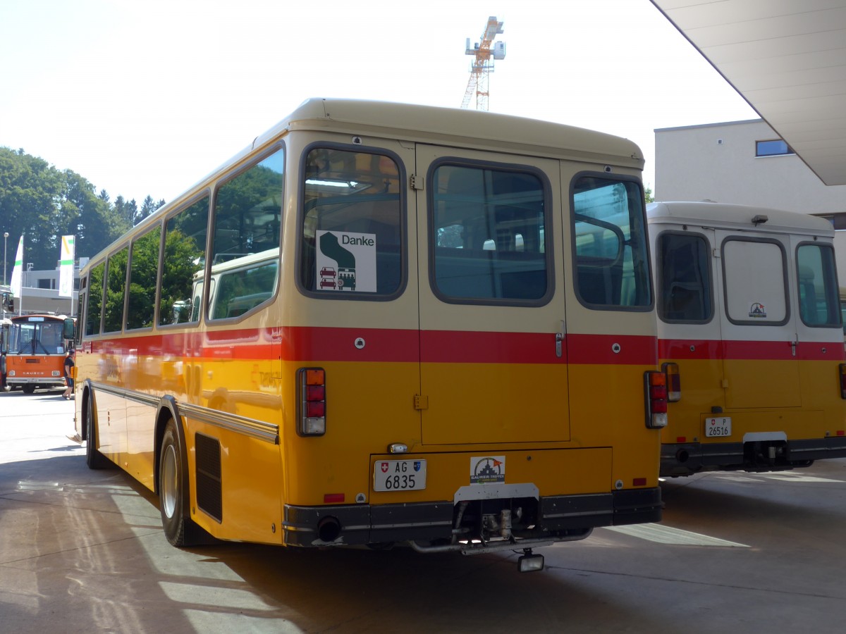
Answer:
<path fill-rule="evenodd" d="M 174 545 L 524 552 L 654 522 L 666 424 L 631 142 L 305 101 L 80 274 L 91 467 Z"/>

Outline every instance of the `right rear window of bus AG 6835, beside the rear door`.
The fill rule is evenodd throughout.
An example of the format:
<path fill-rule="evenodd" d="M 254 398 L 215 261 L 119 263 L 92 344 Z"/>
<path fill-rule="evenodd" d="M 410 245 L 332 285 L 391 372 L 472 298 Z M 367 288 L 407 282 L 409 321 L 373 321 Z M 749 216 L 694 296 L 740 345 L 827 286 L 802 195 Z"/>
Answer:
<path fill-rule="evenodd" d="M 652 303 L 640 183 L 582 176 L 573 186 L 576 295 L 588 308 Z"/>

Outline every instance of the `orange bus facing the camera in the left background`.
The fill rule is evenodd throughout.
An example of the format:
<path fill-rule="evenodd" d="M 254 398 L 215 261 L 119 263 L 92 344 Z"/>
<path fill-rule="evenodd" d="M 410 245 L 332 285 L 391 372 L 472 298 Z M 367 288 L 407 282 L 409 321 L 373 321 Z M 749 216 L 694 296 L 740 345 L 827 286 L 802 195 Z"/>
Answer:
<path fill-rule="evenodd" d="M 67 327 L 65 323 L 69 322 Z M 74 319 L 64 315 L 25 314 L 9 319 L 5 350 L 6 385 L 32 394 L 38 388 L 64 387 L 64 359 L 74 332 Z"/>

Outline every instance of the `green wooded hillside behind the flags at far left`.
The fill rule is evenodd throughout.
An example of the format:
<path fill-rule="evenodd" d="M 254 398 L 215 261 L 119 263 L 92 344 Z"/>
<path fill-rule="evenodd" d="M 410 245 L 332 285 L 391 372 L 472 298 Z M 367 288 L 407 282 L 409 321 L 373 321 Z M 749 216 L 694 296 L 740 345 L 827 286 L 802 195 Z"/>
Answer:
<path fill-rule="evenodd" d="M 0 231 L 8 232 L 7 278 L 21 235 L 25 263 L 50 271 L 56 268 L 62 236 L 76 237 L 76 258 L 92 257 L 163 204 L 147 196 L 138 210 L 135 200 L 118 196 L 112 205 L 105 189 L 96 194 L 80 174 L 58 170 L 24 150 L 0 147 Z"/>

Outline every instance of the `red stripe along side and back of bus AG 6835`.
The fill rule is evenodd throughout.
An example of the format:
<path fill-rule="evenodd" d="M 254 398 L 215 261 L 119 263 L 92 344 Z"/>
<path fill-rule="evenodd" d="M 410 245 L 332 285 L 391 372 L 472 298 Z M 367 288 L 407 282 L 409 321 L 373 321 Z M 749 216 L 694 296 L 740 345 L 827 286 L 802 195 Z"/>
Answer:
<path fill-rule="evenodd" d="M 90 346 L 90 347 L 89 347 Z M 552 332 L 416 331 L 387 328 L 318 328 L 174 332 L 98 339 L 85 352 L 122 357 L 382 363 L 618 363 L 655 365 L 651 336 L 570 334 L 556 354 Z M 422 355 L 420 355 L 422 350 Z"/>

